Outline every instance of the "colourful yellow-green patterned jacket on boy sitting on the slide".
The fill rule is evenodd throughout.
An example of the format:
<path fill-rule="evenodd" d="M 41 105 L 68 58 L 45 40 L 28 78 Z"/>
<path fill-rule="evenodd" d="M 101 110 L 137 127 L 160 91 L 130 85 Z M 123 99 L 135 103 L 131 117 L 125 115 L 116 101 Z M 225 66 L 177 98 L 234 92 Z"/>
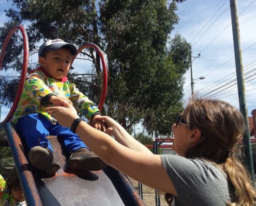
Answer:
<path fill-rule="evenodd" d="M 70 83 L 66 77 L 62 81 L 53 79 L 48 76 L 42 67 L 32 72 L 25 80 L 18 107 L 13 114 L 12 122 L 14 124 L 17 123 L 22 115 L 31 113 L 40 113 L 54 124 L 56 122 L 55 119 L 44 111 L 44 108 L 49 107 L 49 105 L 44 106 L 40 104 L 43 97 L 49 94 L 68 98 L 72 101 L 77 112 L 83 114 L 89 120 L 94 115 L 100 114 L 95 104 L 87 96 L 79 92 L 76 85 Z"/>

